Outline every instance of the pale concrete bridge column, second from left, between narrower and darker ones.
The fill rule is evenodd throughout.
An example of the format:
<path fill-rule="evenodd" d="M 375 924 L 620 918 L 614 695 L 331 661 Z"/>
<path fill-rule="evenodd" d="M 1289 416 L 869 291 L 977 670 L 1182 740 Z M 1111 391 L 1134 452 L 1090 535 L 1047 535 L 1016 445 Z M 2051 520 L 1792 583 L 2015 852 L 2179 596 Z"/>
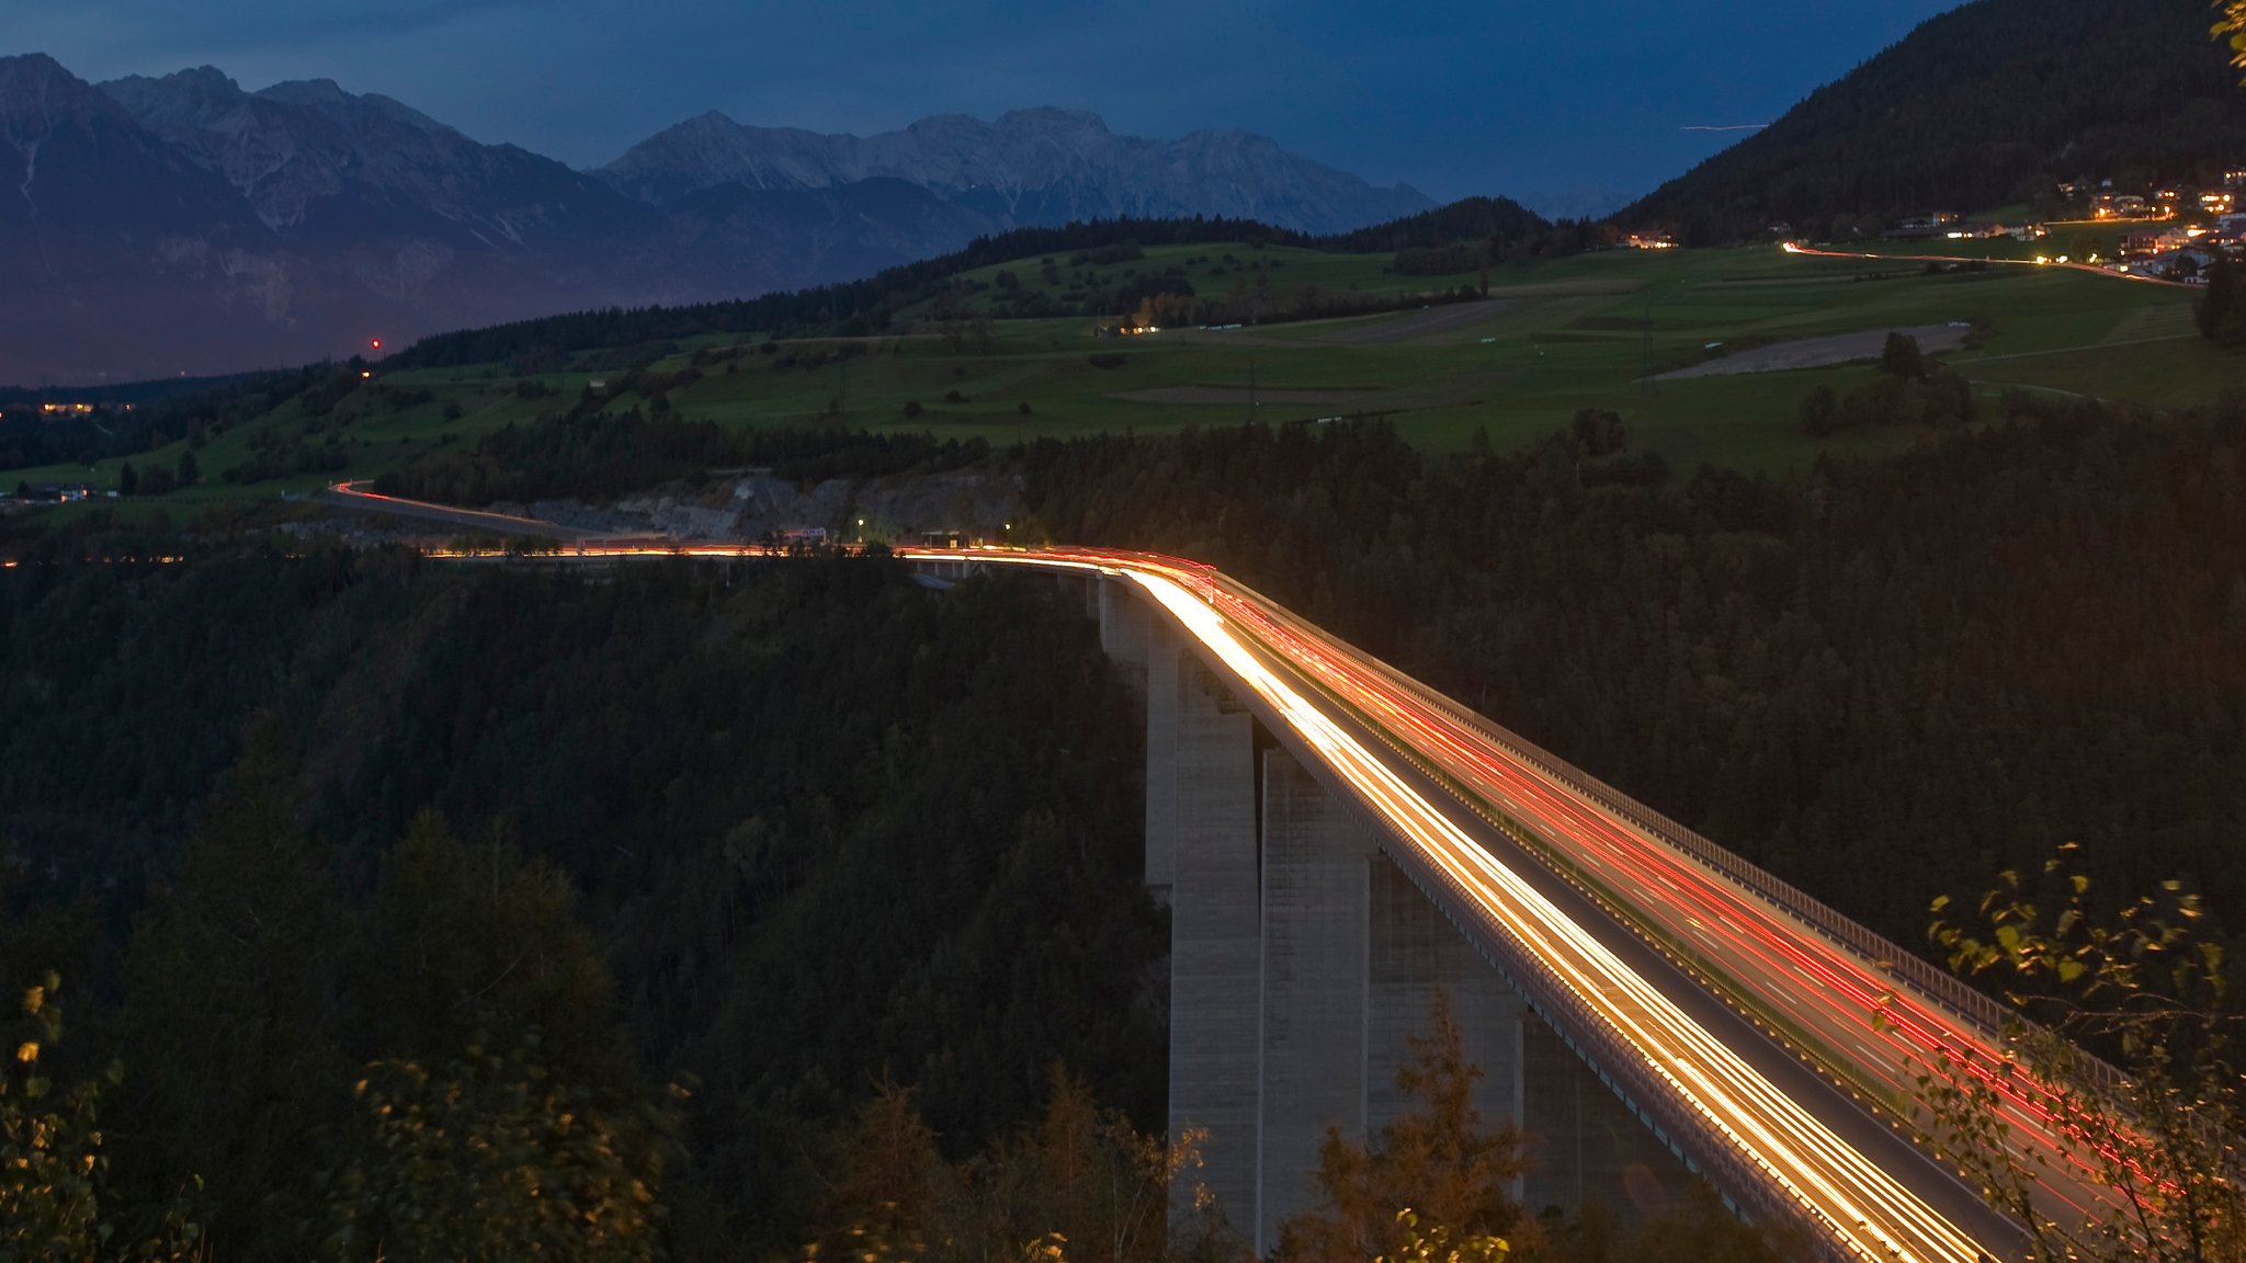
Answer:
<path fill-rule="evenodd" d="M 1258 1259 L 1316 1205 L 1325 1128 L 1366 1135 L 1368 901 L 1388 863 L 1287 751 L 1264 751 L 1262 838 Z"/>

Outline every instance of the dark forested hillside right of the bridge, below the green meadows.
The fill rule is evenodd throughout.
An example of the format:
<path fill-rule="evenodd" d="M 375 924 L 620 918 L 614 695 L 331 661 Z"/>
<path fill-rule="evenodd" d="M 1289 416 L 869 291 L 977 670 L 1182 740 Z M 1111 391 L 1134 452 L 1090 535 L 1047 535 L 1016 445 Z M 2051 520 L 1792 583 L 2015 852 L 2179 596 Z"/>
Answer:
<path fill-rule="evenodd" d="M 1213 562 L 1900 942 L 2062 841 L 2246 919 L 2246 416 L 2008 411 L 1804 485 L 1633 485 L 1599 425 L 1047 445 L 1026 485 L 1053 537 Z"/>

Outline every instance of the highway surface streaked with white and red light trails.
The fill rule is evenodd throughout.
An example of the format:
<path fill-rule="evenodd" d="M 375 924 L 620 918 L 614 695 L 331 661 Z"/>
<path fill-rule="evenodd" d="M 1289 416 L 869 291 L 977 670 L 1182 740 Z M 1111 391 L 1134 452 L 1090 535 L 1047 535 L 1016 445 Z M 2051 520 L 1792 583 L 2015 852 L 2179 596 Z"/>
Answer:
<path fill-rule="evenodd" d="M 579 542 L 564 553 L 764 551 Z M 1658 1097 L 1637 1103 L 1750 1211 L 1790 1211 L 1839 1259 L 2024 1252 L 1911 1128 L 1914 1076 L 1943 1050 L 1994 1063 L 1999 1034 L 1633 823 L 1617 793 L 1197 562 L 1101 548 L 898 555 L 1134 584 L 1453 917 L 1536 962 L 1561 1009 L 1547 996 L 1547 1016 L 1572 1023 L 1610 1079 Z M 2010 1110 L 2021 1144 L 2051 1157 L 2033 1088 Z M 2060 1220 L 2098 1198 L 2057 1160 L 2044 1196 Z"/>

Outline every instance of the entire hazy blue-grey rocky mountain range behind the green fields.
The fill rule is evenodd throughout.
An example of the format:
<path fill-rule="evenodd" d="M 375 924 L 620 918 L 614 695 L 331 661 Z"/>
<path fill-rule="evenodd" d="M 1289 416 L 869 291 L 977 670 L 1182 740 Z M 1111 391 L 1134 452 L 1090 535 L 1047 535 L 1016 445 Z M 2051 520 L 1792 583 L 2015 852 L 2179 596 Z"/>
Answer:
<path fill-rule="evenodd" d="M 703 115 L 575 171 L 330 81 L 245 92 L 200 67 L 92 85 L 43 54 L 0 58 L 0 382 L 25 384 L 748 297 L 1076 218 L 1343 231 L 1433 207 L 1264 137 L 1152 142 L 1074 110 L 862 139 Z"/>

